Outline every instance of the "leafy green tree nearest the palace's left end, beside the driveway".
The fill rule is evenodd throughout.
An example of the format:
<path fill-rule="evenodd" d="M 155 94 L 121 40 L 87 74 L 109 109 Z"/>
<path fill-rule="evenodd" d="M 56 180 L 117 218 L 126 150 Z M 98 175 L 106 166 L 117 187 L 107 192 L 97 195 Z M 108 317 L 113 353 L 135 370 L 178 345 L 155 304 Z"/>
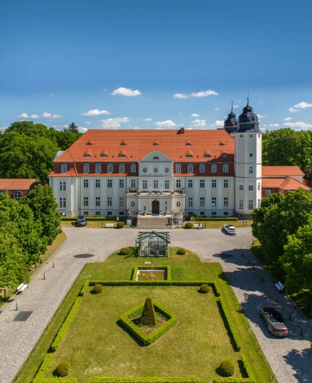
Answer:
<path fill-rule="evenodd" d="M 38 185 L 21 199 L 21 203 L 29 206 L 35 220 L 40 223 L 40 236 L 51 245 L 60 232 L 60 215 L 53 189 L 49 185 Z"/>

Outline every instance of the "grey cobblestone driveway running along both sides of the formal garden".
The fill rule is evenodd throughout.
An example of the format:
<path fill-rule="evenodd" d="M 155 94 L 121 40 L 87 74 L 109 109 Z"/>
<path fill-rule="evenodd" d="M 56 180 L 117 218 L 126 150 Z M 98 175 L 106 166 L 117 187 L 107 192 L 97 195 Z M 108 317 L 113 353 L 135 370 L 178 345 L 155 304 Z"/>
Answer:
<path fill-rule="evenodd" d="M 0 383 L 9 383 L 14 379 L 85 262 L 91 259 L 104 261 L 121 247 L 134 245 L 138 233 L 134 229 L 64 228 L 64 231 L 68 239 L 63 246 L 33 276 L 29 288 L 2 308 Z M 251 229 L 238 229 L 236 237 L 225 235 L 221 230 L 171 230 L 170 237 L 172 246 L 190 249 L 202 261 L 221 263 L 278 381 L 311 382 L 312 349 L 306 337 L 312 340 L 312 328 L 287 298 L 277 293 L 272 280 L 248 250 L 252 241 Z M 74 257 L 85 253 L 95 256 Z M 279 339 L 267 333 L 259 317 L 259 308 L 270 305 L 280 309 L 287 319 L 291 313 L 292 321 L 287 320 L 290 329 L 288 338 Z M 27 321 L 13 321 L 20 311 L 33 313 Z M 301 336 L 301 328 L 304 336 Z"/>

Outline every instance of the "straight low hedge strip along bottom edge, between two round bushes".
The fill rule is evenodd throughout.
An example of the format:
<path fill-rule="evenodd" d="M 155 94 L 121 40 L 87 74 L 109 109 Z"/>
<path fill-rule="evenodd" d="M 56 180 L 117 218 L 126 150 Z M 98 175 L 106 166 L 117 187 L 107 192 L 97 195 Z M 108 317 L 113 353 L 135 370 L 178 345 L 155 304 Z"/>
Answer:
<path fill-rule="evenodd" d="M 145 377 L 145 378 L 114 378 L 114 377 L 92 377 L 89 383 L 200 383 L 196 377 Z"/>

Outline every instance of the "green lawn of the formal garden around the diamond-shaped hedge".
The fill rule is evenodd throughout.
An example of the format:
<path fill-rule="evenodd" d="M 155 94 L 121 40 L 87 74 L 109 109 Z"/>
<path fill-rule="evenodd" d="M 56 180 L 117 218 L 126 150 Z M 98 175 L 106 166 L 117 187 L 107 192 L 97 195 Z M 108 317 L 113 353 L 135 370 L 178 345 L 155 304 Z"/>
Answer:
<path fill-rule="evenodd" d="M 72 364 L 70 376 L 87 382 L 92 375 L 102 376 L 199 376 L 202 382 L 216 377 L 215 369 L 223 357 L 236 364 L 236 374 L 241 376 L 238 365 L 244 353 L 252 367 L 257 382 L 267 382 L 272 371 L 260 350 L 258 341 L 249 328 L 232 289 L 218 263 L 202 263 L 191 252 L 176 255 L 176 248 L 169 248 L 167 258 L 149 258 L 152 265 L 170 265 L 172 280 L 218 281 L 222 297 L 242 343 L 241 352 L 235 352 L 219 313 L 217 297 L 210 291 L 199 294 L 196 287 L 178 286 L 122 286 L 104 287 L 100 295 L 83 297 L 81 306 L 65 335 L 53 353 L 51 368 L 60 360 Z M 130 280 L 135 265 L 145 259 L 131 255 L 110 255 L 104 263 L 88 263 L 79 274 L 48 329 L 38 341 L 18 374 L 17 382 L 30 383 L 48 352 L 58 328 L 87 279 Z M 150 346 L 141 346 L 117 321 L 121 314 L 153 298 L 178 316 L 178 323 Z M 98 372 L 98 374 L 97 374 Z"/>

